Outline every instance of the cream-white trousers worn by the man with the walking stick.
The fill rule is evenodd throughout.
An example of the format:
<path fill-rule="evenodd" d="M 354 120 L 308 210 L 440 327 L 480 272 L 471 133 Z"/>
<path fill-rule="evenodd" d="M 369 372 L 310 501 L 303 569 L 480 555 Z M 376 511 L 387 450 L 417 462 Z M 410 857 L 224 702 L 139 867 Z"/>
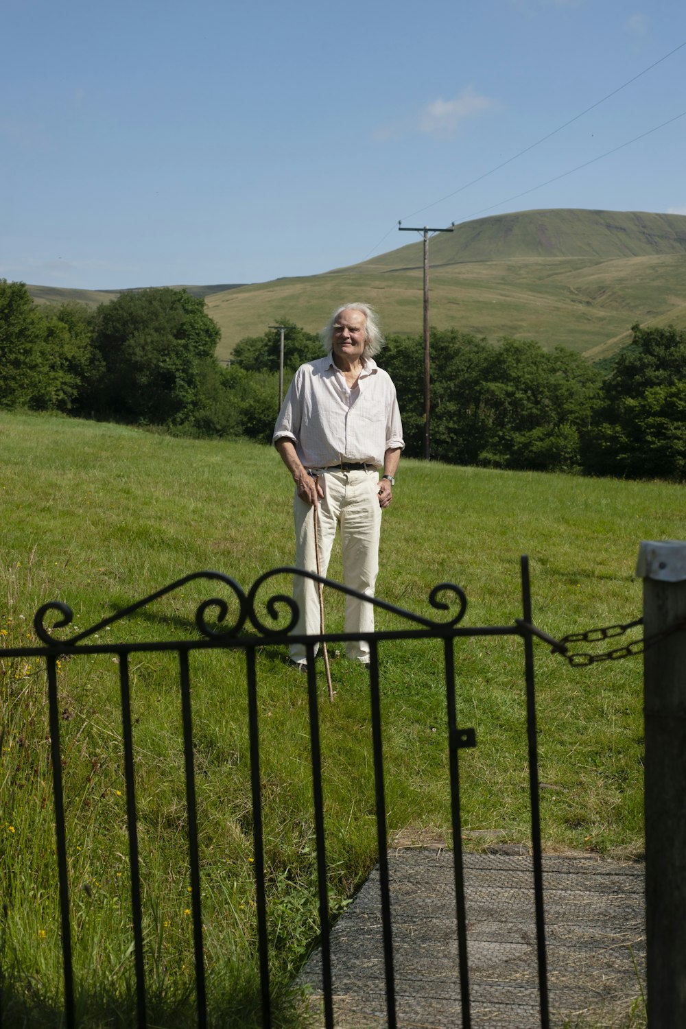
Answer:
<path fill-rule="evenodd" d="M 378 537 L 382 509 L 378 505 L 378 472 L 327 471 L 317 482 L 324 490 L 319 501 L 319 560 L 322 575 L 326 575 L 331 547 L 340 526 L 344 582 L 366 594 L 374 595 L 378 573 Z M 315 519 L 312 504 L 300 500 L 295 493 L 295 566 L 305 571 L 317 571 L 315 549 Z M 299 618 L 294 633 L 319 634 L 319 588 L 312 579 L 293 576 L 293 600 L 298 606 Z M 374 609 L 372 604 L 346 597 L 347 633 L 373 632 Z M 289 647 L 293 661 L 304 661 L 304 644 L 292 643 Z M 317 647 L 315 647 L 317 652 Z M 369 661 L 369 644 L 364 640 L 346 643 L 346 653 L 354 661 Z"/>

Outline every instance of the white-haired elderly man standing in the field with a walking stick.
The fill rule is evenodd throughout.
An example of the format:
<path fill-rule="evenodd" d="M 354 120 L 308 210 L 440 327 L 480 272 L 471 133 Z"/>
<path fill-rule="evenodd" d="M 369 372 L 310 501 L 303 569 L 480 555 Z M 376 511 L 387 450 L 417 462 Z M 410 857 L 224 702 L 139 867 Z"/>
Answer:
<path fill-rule="evenodd" d="M 339 308 L 321 338 L 327 356 L 297 369 L 274 430 L 274 442 L 295 483 L 295 564 L 317 571 L 316 507 L 322 574 L 326 575 L 339 526 L 344 581 L 373 597 L 382 510 L 393 499 L 404 448 L 398 401 L 391 378 L 373 360 L 384 338 L 371 308 L 365 304 Z M 317 634 L 317 583 L 294 576 L 293 599 L 300 613 L 294 632 Z M 346 632 L 373 628 L 372 605 L 347 597 Z M 346 652 L 363 665 L 369 663 L 364 640 L 347 643 Z M 291 645 L 290 659 L 305 670 L 302 643 Z"/>

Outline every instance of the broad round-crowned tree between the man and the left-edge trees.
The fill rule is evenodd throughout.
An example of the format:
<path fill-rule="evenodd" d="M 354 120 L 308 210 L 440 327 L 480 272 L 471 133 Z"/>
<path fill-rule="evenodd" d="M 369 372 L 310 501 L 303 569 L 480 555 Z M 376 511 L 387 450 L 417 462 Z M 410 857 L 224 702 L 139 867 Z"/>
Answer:
<path fill-rule="evenodd" d="M 101 305 L 96 346 L 102 366 L 92 387 L 94 413 L 138 424 L 192 422 L 204 362 L 214 359 L 219 334 L 204 299 L 183 289 L 125 292 Z"/>

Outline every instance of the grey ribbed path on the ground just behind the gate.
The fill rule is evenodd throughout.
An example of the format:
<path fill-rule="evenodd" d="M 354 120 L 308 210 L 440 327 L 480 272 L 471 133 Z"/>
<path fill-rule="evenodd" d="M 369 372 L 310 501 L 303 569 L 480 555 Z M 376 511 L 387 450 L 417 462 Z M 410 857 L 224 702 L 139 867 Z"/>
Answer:
<path fill-rule="evenodd" d="M 540 1026 L 531 857 L 464 860 L 472 1025 Z M 389 863 L 398 1025 L 459 1027 L 453 855 L 392 850 Z M 644 982 L 643 865 L 545 856 L 543 877 L 551 1025 L 625 1025 Z M 334 927 L 331 948 L 336 1026 L 385 1026 L 377 868 Z M 321 994 L 319 953 L 301 980 Z"/>

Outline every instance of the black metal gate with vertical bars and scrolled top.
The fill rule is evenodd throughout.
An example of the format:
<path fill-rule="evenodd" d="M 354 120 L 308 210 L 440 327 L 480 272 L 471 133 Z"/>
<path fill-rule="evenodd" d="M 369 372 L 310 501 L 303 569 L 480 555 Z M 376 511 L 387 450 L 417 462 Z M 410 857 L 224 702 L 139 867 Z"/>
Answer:
<path fill-rule="evenodd" d="M 176 582 L 157 591 L 149 597 L 138 601 L 118 611 L 111 617 L 104 618 L 92 628 L 77 632 L 69 638 L 57 638 L 56 630 L 66 629 L 72 620 L 72 611 L 61 602 L 43 605 L 35 615 L 34 628 L 41 645 L 8 647 L 0 649 L 2 658 L 39 659 L 44 662 L 47 676 L 47 691 L 49 701 L 49 737 L 51 753 L 51 770 L 53 784 L 55 826 L 57 837 L 57 872 L 60 890 L 61 939 L 64 974 L 64 1014 L 68 1029 L 74 1029 L 78 1024 L 74 1000 L 74 973 L 72 955 L 72 919 L 70 900 L 70 874 L 68 860 L 67 832 L 65 825 L 65 795 L 63 790 L 62 762 L 63 754 L 60 741 L 60 665 L 65 657 L 70 660 L 83 654 L 111 654 L 118 661 L 121 724 L 123 739 L 123 769 L 125 780 L 127 822 L 129 836 L 129 867 L 131 876 L 131 911 L 132 911 L 132 964 L 135 972 L 135 988 L 137 1001 L 137 1025 L 139 1029 L 148 1024 L 146 1010 L 145 982 L 145 938 L 143 931 L 140 854 L 138 840 L 136 780 L 134 774 L 134 742 L 132 732 L 132 704 L 130 663 L 132 657 L 141 652 L 172 651 L 178 657 L 179 688 L 183 719 L 183 749 L 185 759 L 185 795 L 188 839 L 188 860 L 190 873 L 190 903 L 193 925 L 194 952 L 194 984 L 197 1026 L 204 1029 L 208 1025 L 208 1001 L 206 990 L 206 963 L 203 943 L 203 912 L 201 907 L 202 867 L 198 857 L 198 814 L 195 791 L 195 769 L 193 760 L 193 730 L 191 711 L 191 681 L 189 672 L 189 654 L 191 651 L 208 648 L 239 649 L 246 655 L 247 690 L 249 712 L 250 739 L 250 775 L 252 788 L 252 824 L 254 830 L 254 871 L 256 887 L 256 918 L 259 950 L 259 969 L 261 982 L 261 1010 L 263 1026 L 272 1026 L 272 998 L 269 988 L 268 944 L 267 944 L 267 900 L 264 889 L 264 840 L 262 829 L 262 782 L 260 777 L 259 724 L 258 724 L 258 655 L 257 651 L 265 643 L 269 645 L 285 645 L 293 639 L 302 641 L 308 649 L 308 698 L 309 728 L 312 760 L 312 784 L 314 801 L 314 818 L 316 832 L 316 855 L 319 889 L 319 920 L 322 952 L 322 995 L 324 1004 L 324 1022 L 332 1027 L 334 1024 L 333 984 L 330 964 L 330 914 L 327 895 L 327 858 L 324 824 L 324 804 L 322 789 L 322 767 L 320 747 L 320 695 L 315 671 L 315 648 L 317 644 L 345 642 L 352 637 L 341 633 L 326 633 L 320 636 L 293 637 L 289 635 L 295 624 L 296 611 L 290 597 L 277 594 L 263 605 L 269 616 L 278 620 L 279 613 L 284 608 L 289 612 L 288 625 L 278 629 L 265 624 L 257 609 L 258 591 L 268 579 L 284 573 L 305 574 L 308 577 L 322 582 L 327 589 L 351 594 L 368 600 L 340 583 L 319 576 L 302 573 L 294 568 L 278 568 L 261 575 L 248 593 L 230 577 L 220 572 L 197 572 L 184 576 Z M 225 600 L 212 598 L 204 601 L 195 613 L 195 625 L 198 637 L 181 642 L 151 641 L 136 643 L 108 644 L 102 642 L 100 633 L 115 622 L 131 617 L 153 601 L 180 590 L 194 579 L 215 580 L 224 583 L 238 601 L 239 613 L 231 627 L 221 625 L 225 622 L 228 606 Z M 460 638 L 469 636 L 515 636 L 521 639 L 523 655 L 523 674 L 527 696 L 527 733 L 529 746 L 529 778 L 531 799 L 531 838 L 532 863 L 534 879 L 534 895 L 536 909 L 537 961 L 540 996 L 540 1024 L 549 1025 L 548 991 L 546 973 L 545 930 L 543 918 L 542 860 L 541 835 L 539 818 L 538 791 L 538 758 L 536 711 L 534 694 L 534 660 L 533 638 L 540 634 L 532 624 L 529 564 L 527 558 L 521 559 L 521 596 L 522 616 L 515 618 L 509 626 L 491 626 L 466 628 L 462 626 L 467 601 L 462 590 L 448 582 L 436 586 L 429 597 L 432 607 L 437 611 L 447 612 L 446 620 L 434 620 L 402 610 L 392 604 L 375 599 L 376 608 L 390 611 L 400 616 L 404 626 L 397 631 L 376 632 L 364 637 L 370 646 L 369 697 L 371 711 L 371 733 L 373 742 L 373 776 L 375 788 L 375 818 L 378 846 L 378 872 L 383 921 L 384 961 L 386 970 L 386 1007 L 388 1025 L 396 1026 L 396 986 L 394 979 L 394 958 L 392 943 L 391 903 L 389 895 L 389 868 L 387 860 L 387 821 L 386 797 L 384 784 L 384 762 L 382 753 L 382 715 L 381 686 L 378 666 L 378 643 L 385 640 L 438 640 L 442 643 L 443 675 L 445 682 L 445 701 L 447 711 L 447 748 L 450 785 L 452 831 L 454 844 L 454 872 L 456 895 L 456 933 L 458 937 L 459 968 L 456 975 L 460 981 L 462 1004 L 462 1024 L 469 1027 L 472 1024 L 470 1014 L 469 967 L 467 955 L 467 934 L 465 911 L 465 888 L 463 876 L 462 831 L 460 814 L 460 752 L 476 745 L 474 730 L 459 725 L 456 716 L 456 667 L 455 643 Z M 457 612 L 452 610 L 457 605 Z M 262 610 L 262 607 L 260 607 Z M 208 616 L 213 615 L 213 625 Z M 283 618 L 282 618 L 283 620 Z M 51 625 L 48 625 L 51 623 Z M 219 624 L 220 628 L 217 627 Z M 357 638 L 357 637 L 356 637 Z M 2 998 L 0 996 L 0 1024 L 2 1023 Z"/>

